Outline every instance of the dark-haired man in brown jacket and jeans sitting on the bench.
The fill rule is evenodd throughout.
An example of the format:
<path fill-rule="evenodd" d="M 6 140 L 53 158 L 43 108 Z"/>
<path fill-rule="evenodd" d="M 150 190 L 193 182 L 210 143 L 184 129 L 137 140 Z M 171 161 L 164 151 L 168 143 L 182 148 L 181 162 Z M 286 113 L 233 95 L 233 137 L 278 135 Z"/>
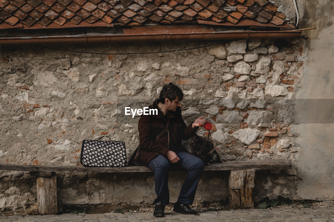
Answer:
<path fill-rule="evenodd" d="M 168 176 L 171 169 L 188 171 L 173 211 L 182 214 L 197 214 L 192 205 L 202 175 L 203 161 L 182 147 L 181 139 L 188 140 L 206 120 L 199 117 L 188 126 L 181 115 L 182 90 L 169 83 L 165 85 L 149 108 L 158 110 L 157 115 L 141 115 L 138 123 L 141 160 L 154 171 L 155 217 L 163 217 L 165 205 L 169 204 Z"/>

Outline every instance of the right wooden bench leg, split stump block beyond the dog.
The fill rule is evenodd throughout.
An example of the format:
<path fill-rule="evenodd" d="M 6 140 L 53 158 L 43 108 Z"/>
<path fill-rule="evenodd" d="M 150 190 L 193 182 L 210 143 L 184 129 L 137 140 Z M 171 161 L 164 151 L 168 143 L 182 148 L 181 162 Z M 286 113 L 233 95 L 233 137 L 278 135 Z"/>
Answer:
<path fill-rule="evenodd" d="M 228 179 L 231 209 L 254 208 L 254 178 L 255 170 L 231 170 Z"/>

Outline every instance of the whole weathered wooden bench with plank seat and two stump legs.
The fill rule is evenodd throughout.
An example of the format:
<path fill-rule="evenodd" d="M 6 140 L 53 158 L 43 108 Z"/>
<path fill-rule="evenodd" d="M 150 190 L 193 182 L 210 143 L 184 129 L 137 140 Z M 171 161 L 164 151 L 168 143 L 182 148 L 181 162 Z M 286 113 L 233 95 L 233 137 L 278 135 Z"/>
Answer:
<path fill-rule="evenodd" d="M 254 208 L 253 188 L 255 170 L 290 169 L 287 160 L 249 160 L 229 161 L 205 166 L 204 171 L 230 170 L 228 193 L 230 207 Z M 36 177 L 37 210 L 40 214 L 58 212 L 57 186 L 55 172 L 81 173 L 126 173 L 152 172 L 146 166 L 126 167 L 83 167 L 83 166 L 47 166 L 47 165 L 10 165 L 0 164 L 0 170 L 29 171 Z"/>

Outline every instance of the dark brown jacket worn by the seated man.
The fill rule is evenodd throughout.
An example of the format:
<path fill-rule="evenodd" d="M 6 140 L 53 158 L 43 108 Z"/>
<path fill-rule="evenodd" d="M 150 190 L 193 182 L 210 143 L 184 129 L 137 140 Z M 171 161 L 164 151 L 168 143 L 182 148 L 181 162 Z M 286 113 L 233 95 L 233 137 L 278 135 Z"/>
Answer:
<path fill-rule="evenodd" d="M 169 119 L 168 130 L 155 141 L 156 136 L 162 132 L 167 124 L 167 121 L 162 117 L 157 103 L 159 103 L 158 99 L 149 106 L 149 109 L 157 109 L 158 114 L 141 115 L 138 122 L 139 144 L 141 145 L 141 160 L 143 165 L 147 165 L 150 160 L 160 154 L 166 157 L 166 153 L 169 151 L 169 140 L 173 140 L 174 144 L 177 146 L 174 149 L 188 152 L 187 149 L 182 146 L 181 139 L 188 140 L 198 129 L 192 129 L 192 123 L 188 126 L 184 123 L 181 108 L 177 107 L 175 112 L 169 111 L 166 114 L 166 118 Z"/>

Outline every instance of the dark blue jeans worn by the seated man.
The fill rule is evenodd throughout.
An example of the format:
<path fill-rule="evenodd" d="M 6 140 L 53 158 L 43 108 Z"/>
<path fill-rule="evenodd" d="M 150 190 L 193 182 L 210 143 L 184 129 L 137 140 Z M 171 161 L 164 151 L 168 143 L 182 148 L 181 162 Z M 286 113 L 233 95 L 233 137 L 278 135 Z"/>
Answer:
<path fill-rule="evenodd" d="M 157 198 L 153 204 L 162 202 L 163 205 L 169 204 L 168 177 L 170 170 L 186 170 L 187 177 L 182 185 L 177 202 L 192 205 L 198 185 L 198 181 L 204 170 L 204 163 L 198 157 L 184 152 L 174 151 L 180 158 L 177 163 L 171 163 L 164 156 L 159 155 L 152 159 L 147 167 L 154 171 L 155 192 Z"/>

